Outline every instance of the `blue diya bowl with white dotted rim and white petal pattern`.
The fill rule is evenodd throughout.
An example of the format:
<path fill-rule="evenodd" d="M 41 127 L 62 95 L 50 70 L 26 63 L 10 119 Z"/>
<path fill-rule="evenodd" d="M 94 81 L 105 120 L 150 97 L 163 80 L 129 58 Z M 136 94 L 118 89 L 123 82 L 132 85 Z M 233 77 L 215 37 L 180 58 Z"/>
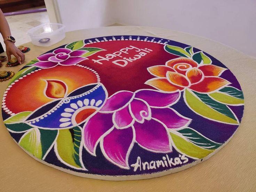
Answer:
<path fill-rule="evenodd" d="M 71 128 L 76 126 L 71 121 L 75 111 L 87 106 L 97 111 L 107 98 L 105 90 L 102 84 L 82 86 L 65 98 L 51 101 L 38 108 L 26 119 L 26 123 L 39 128 Z M 46 109 L 47 112 L 45 112 Z"/>

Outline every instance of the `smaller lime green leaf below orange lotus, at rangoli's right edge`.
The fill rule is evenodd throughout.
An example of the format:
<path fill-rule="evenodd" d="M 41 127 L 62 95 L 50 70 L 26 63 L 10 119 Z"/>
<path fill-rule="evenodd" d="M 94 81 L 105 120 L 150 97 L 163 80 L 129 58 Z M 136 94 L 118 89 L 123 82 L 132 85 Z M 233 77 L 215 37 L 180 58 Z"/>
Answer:
<path fill-rule="evenodd" d="M 243 99 L 238 99 L 221 92 L 211 93 L 210 96 L 215 100 L 225 103 L 227 105 L 243 105 Z"/>

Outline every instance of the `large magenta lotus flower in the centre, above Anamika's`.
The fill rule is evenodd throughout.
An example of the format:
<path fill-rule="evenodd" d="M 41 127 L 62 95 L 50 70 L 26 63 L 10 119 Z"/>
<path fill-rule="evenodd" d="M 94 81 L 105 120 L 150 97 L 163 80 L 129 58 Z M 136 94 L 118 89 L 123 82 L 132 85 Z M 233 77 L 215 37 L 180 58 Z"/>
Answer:
<path fill-rule="evenodd" d="M 128 158 L 135 142 L 148 151 L 171 152 L 168 130 L 187 126 L 191 121 L 169 108 L 179 98 L 179 91 L 147 89 L 113 94 L 84 125 L 86 150 L 96 156 L 100 143 L 105 158 L 125 169 L 129 169 Z"/>

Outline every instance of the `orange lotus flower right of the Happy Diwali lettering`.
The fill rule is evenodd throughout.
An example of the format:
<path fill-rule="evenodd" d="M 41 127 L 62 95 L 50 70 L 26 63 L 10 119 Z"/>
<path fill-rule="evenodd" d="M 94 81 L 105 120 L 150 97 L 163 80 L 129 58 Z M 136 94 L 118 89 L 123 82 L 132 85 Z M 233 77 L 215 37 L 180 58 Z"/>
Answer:
<path fill-rule="evenodd" d="M 145 84 L 166 92 L 189 88 L 201 93 L 210 93 L 230 84 L 219 77 L 226 68 L 198 65 L 197 62 L 185 57 L 171 59 L 166 65 L 152 66 L 147 70 L 157 78 L 152 78 Z"/>

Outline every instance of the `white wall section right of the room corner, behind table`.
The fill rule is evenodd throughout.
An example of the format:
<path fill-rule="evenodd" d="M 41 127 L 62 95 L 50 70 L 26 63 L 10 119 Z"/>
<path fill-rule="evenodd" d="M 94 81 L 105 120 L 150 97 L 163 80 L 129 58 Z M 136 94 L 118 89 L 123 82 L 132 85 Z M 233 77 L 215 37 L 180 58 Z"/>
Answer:
<path fill-rule="evenodd" d="M 116 0 L 116 22 L 169 28 L 256 57 L 256 0 Z"/>

